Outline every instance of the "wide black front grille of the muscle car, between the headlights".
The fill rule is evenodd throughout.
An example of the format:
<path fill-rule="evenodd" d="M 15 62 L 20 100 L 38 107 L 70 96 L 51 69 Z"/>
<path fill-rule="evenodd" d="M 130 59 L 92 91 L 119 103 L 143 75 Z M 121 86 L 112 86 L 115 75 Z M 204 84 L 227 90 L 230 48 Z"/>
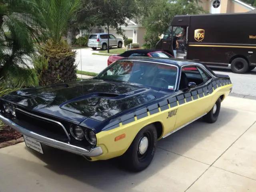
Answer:
<path fill-rule="evenodd" d="M 66 132 L 58 123 L 30 115 L 19 109 L 16 109 L 15 112 L 16 118 L 18 120 L 17 123 L 20 126 L 25 126 L 24 128 L 26 128 L 27 130 L 33 131 L 35 133 L 52 139 L 57 139 L 56 137 L 58 137 L 61 140 L 68 139 Z"/>

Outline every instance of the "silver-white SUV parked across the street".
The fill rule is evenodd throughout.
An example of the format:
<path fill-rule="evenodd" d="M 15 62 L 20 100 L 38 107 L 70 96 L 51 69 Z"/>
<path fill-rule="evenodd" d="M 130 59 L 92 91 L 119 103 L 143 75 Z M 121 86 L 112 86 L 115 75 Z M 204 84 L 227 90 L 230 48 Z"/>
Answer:
<path fill-rule="evenodd" d="M 109 34 L 109 46 L 117 46 L 122 48 L 123 40 L 121 38 L 116 38 L 114 35 Z M 91 47 L 93 50 L 101 48 L 102 50 L 107 50 L 108 48 L 108 34 L 107 33 L 97 33 L 91 34 L 88 40 L 88 47 Z"/>

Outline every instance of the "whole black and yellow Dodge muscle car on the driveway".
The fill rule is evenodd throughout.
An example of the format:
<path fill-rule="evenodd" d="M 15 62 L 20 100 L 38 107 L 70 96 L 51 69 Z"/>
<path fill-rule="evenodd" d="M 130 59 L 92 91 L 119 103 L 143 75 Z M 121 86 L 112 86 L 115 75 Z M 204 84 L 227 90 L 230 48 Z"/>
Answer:
<path fill-rule="evenodd" d="M 124 58 L 89 80 L 4 96 L 0 120 L 38 152 L 46 144 L 89 161 L 118 157 L 141 171 L 161 138 L 201 117 L 216 122 L 231 90 L 229 76 L 196 62 Z"/>

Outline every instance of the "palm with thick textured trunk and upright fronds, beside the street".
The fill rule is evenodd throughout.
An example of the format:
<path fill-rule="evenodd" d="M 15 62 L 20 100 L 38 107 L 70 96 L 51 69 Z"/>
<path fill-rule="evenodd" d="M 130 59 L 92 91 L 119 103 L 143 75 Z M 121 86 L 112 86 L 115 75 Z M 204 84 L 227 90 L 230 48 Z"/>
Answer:
<path fill-rule="evenodd" d="M 82 0 L 40 0 L 38 6 L 49 37 L 38 47 L 39 55 L 33 58 L 39 84 L 76 80 L 76 52 L 62 37 L 67 32 L 70 19 L 81 8 Z"/>

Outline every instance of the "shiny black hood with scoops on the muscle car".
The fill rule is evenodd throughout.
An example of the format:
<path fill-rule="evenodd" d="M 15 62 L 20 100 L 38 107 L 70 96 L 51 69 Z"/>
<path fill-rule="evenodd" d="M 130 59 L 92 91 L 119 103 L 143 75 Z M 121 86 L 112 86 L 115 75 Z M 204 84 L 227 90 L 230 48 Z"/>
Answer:
<path fill-rule="evenodd" d="M 88 117 L 104 121 L 124 110 L 163 94 L 134 84 L 84 80 L 12 92 L 4 100 L 28 110 L 81 122 Z"/>

